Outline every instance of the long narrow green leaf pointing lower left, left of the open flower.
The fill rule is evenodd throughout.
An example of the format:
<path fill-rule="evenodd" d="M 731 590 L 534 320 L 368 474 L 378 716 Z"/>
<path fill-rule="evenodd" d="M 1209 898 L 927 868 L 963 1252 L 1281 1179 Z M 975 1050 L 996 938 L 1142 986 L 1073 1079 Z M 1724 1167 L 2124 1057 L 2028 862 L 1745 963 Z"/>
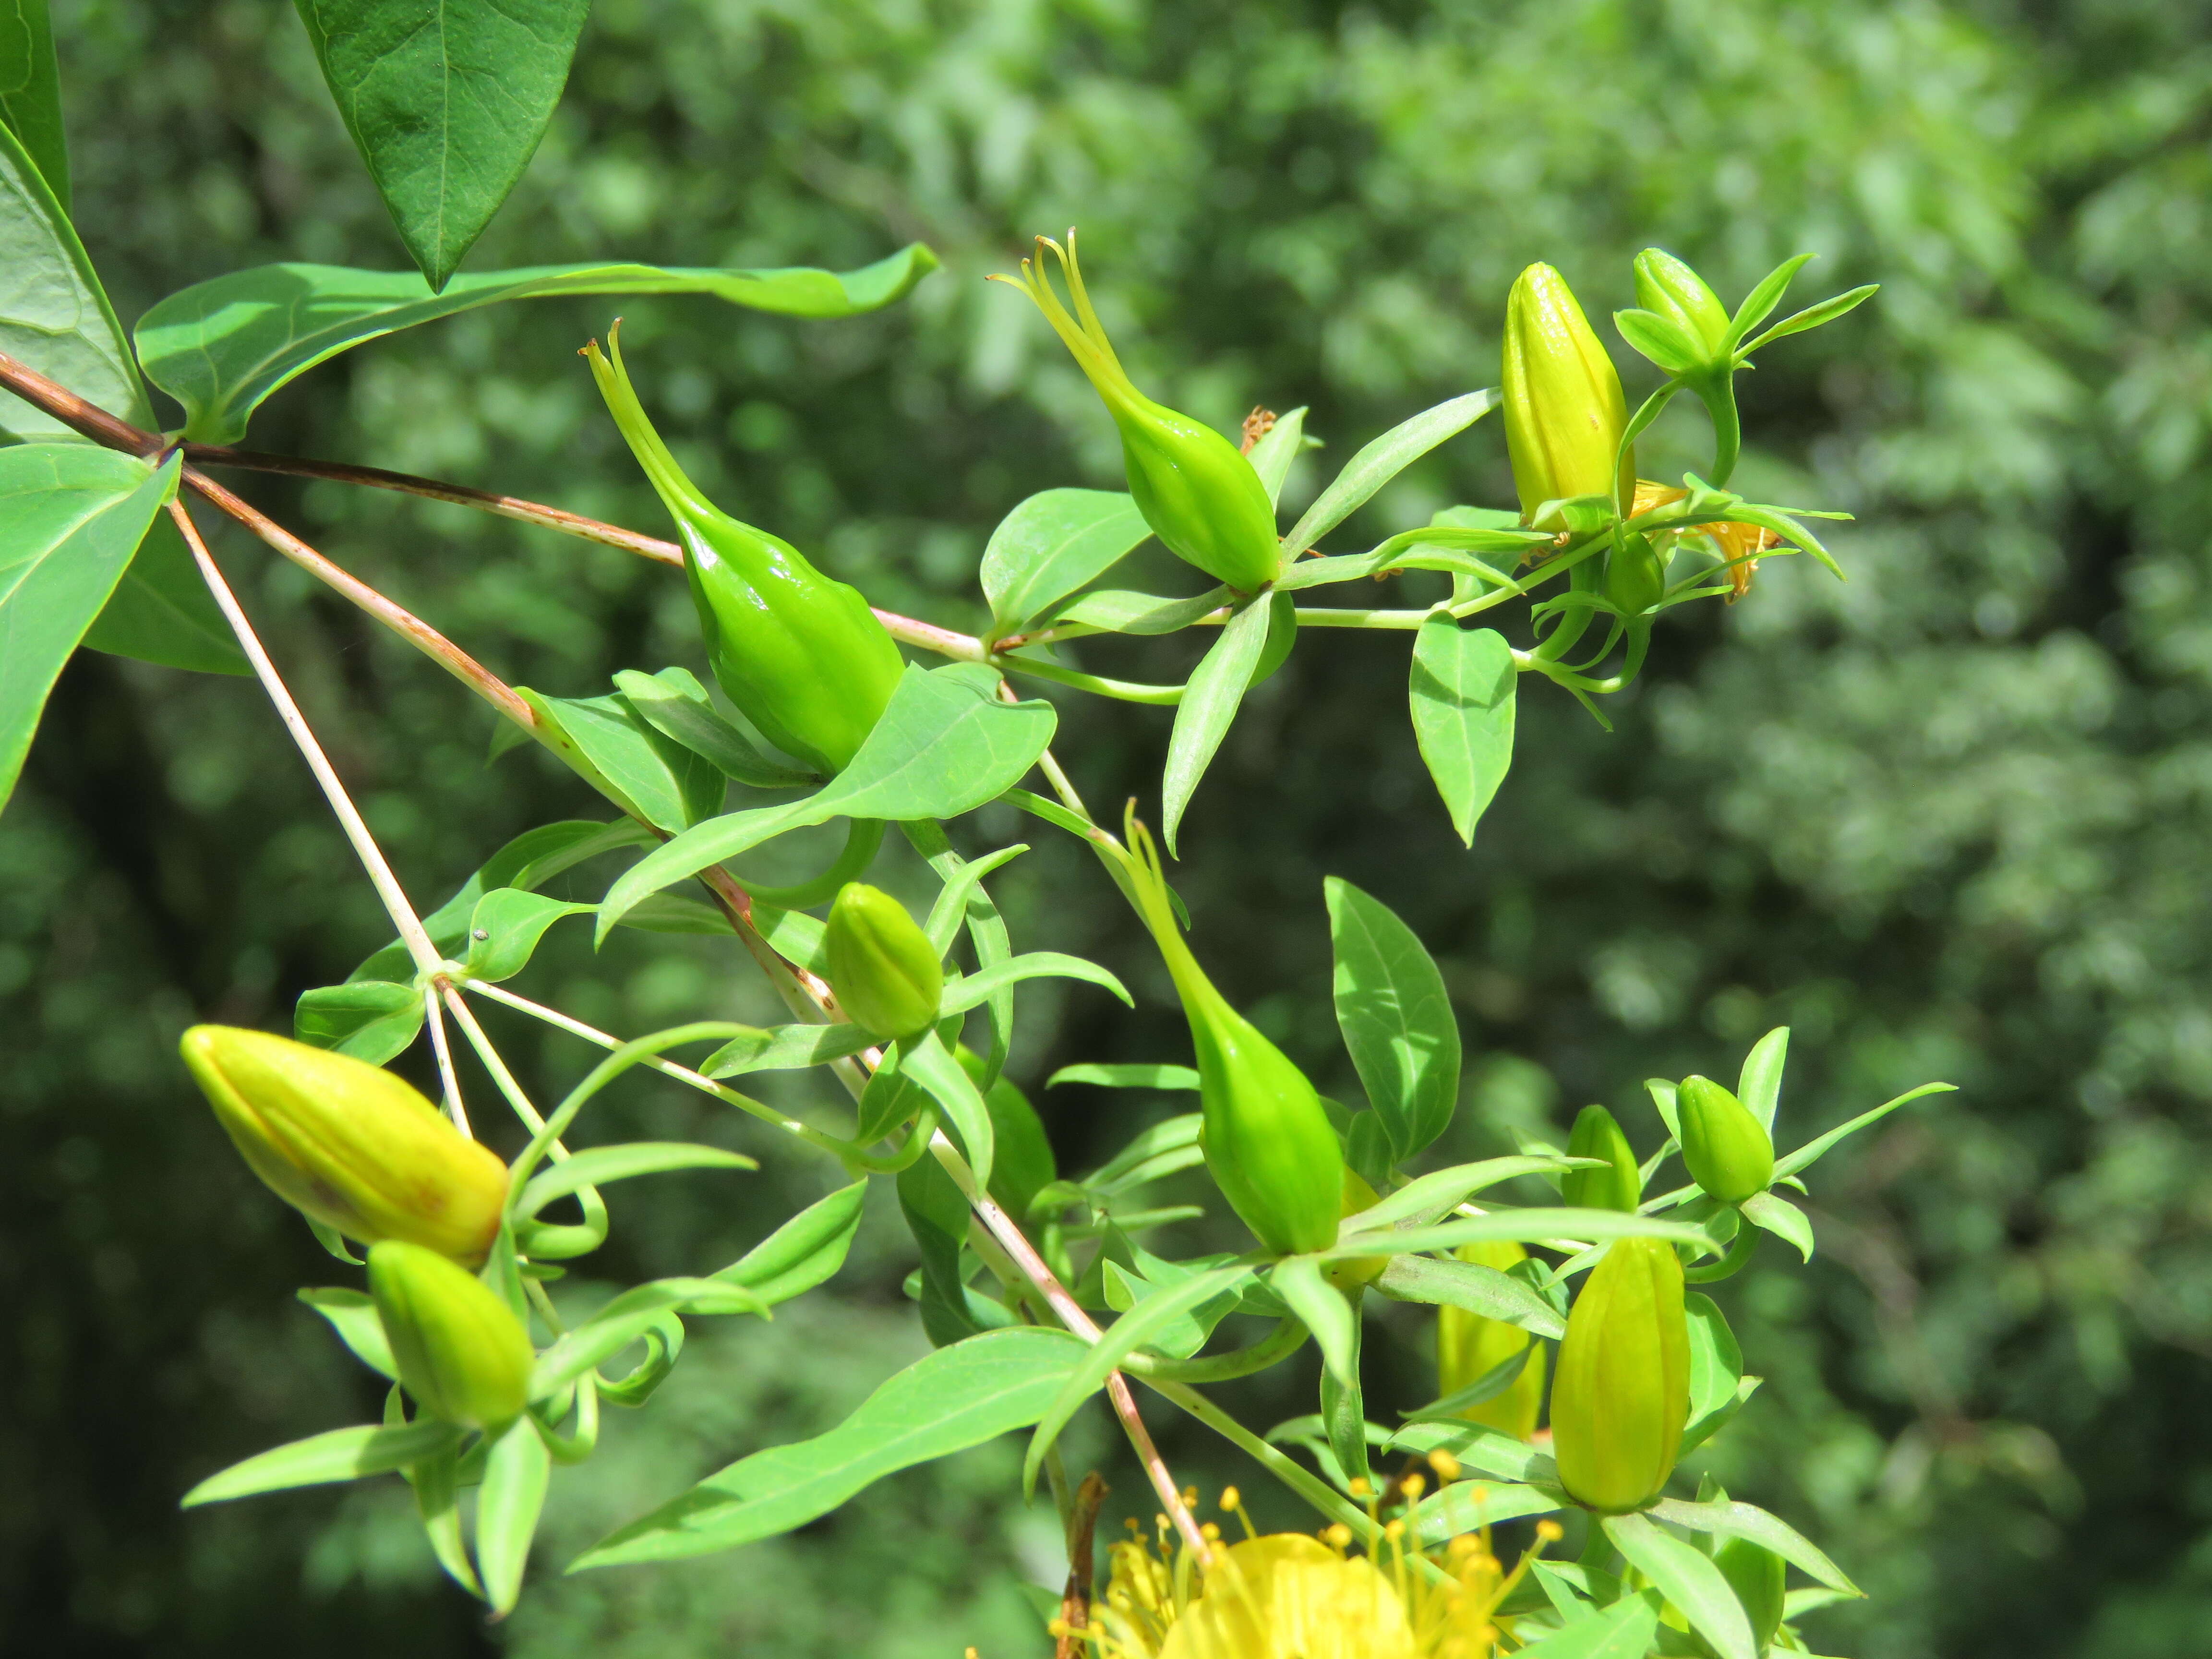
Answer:
<path fill-rule="evenodd" d="M 1082 1356 L 1077 1338 L 1046 1329 L 989 1332 L 925 1354 L 830 1433 L 708 1475 L 571 1571 L 708 1555 L 805 1526 L 885 1475 L 1035 1422 Z"/>

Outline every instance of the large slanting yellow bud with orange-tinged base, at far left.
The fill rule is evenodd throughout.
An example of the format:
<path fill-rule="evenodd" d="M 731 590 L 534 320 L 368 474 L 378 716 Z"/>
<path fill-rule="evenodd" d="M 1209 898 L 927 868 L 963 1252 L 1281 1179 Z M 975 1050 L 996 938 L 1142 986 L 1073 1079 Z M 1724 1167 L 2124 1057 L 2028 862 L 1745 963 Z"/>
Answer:
<path fill-rule="evenodd" d="M 184 1064 L 270 1192 L 347 1239 L 405 1239 L 478 1263 L 507 1166 L 405 1079 L 305 1042 L 192 1026 Z"/>

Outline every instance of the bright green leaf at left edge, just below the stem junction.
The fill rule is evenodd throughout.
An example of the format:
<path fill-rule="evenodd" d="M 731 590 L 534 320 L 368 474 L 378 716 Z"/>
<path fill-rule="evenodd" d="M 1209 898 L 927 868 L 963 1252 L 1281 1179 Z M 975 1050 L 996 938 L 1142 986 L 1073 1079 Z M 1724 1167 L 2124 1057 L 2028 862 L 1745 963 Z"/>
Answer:
<path fill-rule="evenodd" d="M 93 445 L 0 449 L 0 805 L 62 664 L 177 493 L 177 467 Z"/>

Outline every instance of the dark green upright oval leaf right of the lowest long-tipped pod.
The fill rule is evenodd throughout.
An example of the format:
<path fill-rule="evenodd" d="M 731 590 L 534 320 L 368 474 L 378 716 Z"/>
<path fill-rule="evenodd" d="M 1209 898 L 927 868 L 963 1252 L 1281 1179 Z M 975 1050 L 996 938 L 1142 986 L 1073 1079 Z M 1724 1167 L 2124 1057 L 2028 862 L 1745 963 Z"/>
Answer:
<path fill-rule="evenodd" d="M 1340 876 L 1325 883 L 1336 1026 L 1396 1161 L 1444 1133 L 1460 1104 L 1460 1022 L 1420 938 Z"/>

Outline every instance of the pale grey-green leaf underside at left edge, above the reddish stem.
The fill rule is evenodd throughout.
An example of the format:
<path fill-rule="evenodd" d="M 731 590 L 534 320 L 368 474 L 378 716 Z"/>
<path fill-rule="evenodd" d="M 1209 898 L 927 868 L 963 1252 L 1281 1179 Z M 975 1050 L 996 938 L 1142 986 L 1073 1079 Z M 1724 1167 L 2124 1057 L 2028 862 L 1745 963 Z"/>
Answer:
<path fill-rule="evenodd" d="M 153 429 L 153 405 L 131 363 L 131 338 L 84 257 L 69 215 L 38 164 L 0 126 L 0 352 L 133 427 Z M 77 434 L 0 392 L 0 436 L 27 442 Z"/>

